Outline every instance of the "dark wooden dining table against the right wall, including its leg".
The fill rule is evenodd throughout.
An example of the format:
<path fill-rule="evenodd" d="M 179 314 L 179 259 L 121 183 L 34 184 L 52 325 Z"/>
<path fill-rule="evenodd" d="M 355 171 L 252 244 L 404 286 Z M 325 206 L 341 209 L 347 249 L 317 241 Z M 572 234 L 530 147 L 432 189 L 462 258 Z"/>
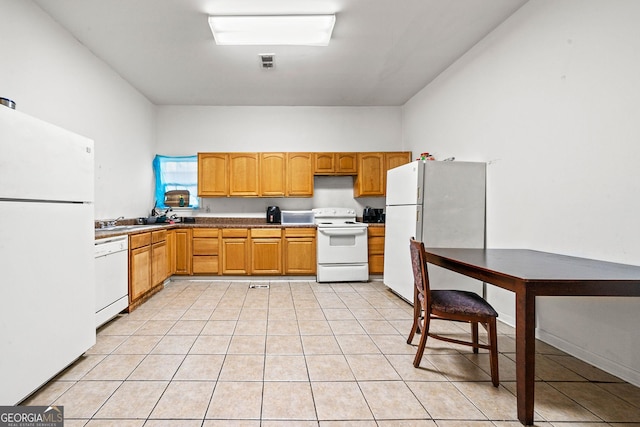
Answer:
<path fill-rule="evenodd" d="M 640 296 L 640 266 L 529 249 L 426 248 L 428 263 L 507 289 L 516 300 L 518 419 L 533 424 L 538 296 Z"/>

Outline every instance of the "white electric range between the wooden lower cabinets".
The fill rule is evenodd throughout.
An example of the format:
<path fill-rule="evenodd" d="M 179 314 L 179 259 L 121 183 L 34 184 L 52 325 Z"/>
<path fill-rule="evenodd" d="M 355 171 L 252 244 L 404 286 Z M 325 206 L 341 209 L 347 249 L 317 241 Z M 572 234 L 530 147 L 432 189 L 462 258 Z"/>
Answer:
<path fill-rule="evenodd" d="M 356 211 L 349 208 L 317 208 L 313 214 L 318 229 L 317 281 L 368 281 L 367 224 L 356 222 Z"/>

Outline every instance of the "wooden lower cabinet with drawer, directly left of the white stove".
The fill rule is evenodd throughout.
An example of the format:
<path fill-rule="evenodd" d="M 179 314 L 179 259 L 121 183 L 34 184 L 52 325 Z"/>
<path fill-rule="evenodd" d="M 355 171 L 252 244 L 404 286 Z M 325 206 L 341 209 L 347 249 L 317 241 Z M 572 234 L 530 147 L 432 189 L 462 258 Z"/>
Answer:
<path fill-rule="evenodd" d="M 316 229 L 284 229 L 284 274 L 316 274 Z"/>

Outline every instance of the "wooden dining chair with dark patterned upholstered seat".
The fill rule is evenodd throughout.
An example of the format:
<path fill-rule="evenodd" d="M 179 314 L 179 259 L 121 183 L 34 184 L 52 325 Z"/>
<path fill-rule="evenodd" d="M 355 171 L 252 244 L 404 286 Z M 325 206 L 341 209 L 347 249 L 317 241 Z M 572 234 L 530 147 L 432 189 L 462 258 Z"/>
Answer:
<path fill-rule="evenodd" d="M 496 331 L 496 318 L 498 313 L 491 305 L 479 295 L 458 290 L 431 290 L 429 288 L 429 275 L 424 253 L 424 244 L 415 239 L 410 240 L 411 264 L 413 267 L 414 291 L 413 291 L 413 326 L 407 339 L 411 344 L 416 333 L 421 333 L 418 351 L 413 360 L 413 366 L 420 366 L 420 360 L 424 354 L 427 338 L 452 342 L 473 347 L 477 353 L 479 348 L 489 350 L 491 361 L 491 382 L 498 387 L 498 334 Z M 471 342 L 461 341 L 429 332 L 431 319 L 453 320 L 471 324 Z M 422 323 L 420 323 L 422 320 Z M 487 330 L 489 344 L 478 342 L 478 323 Z"/>

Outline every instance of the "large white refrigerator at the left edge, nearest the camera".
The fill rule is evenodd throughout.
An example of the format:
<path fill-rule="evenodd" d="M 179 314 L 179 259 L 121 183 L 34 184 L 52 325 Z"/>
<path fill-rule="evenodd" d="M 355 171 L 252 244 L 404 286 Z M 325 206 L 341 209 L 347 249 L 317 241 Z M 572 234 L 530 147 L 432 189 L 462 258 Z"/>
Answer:
<path fill-rule="evenodd" d="M 0 106 L 0 405 L 95 344 L 93 141 Z"/>

